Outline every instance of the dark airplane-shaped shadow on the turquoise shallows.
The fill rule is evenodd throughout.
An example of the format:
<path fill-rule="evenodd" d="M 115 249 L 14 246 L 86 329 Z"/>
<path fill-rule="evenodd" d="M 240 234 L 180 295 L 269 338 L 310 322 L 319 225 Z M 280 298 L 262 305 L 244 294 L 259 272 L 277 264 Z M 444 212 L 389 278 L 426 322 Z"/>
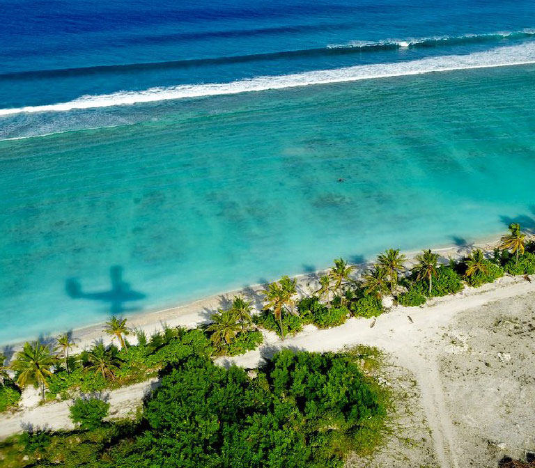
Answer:
<path fill-rule="evenodd" d="M 112 315 L 138 310 L 137 307 L 126 308 L 125 303 L 145 299 L 143 292 L 130 288 L 130 284 L 123 281 L 123 267 L 115 265 L 109 269 L 111 289 L 96 292 L 84 292 L 82 285 L 76 278 L 65 281 L 65 290 L 72 299 L 89 299 L 109 303 Z"/>

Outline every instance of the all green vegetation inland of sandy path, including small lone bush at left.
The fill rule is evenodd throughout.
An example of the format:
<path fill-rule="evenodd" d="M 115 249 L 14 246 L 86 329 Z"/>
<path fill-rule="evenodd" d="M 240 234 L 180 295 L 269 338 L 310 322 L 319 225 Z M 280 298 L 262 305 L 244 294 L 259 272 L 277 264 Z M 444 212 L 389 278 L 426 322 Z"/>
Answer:
<path fill-rule="evenodd" d="M 389 396 L 362 370 L 373 350 L 284 350 L 250 374 L 213 364 L 199 335 L 178 341 L 139 421 L 102 423 L 106 404 L 77 400 L 86 430 L 12 437 L 0 444 L 6 467 L 334 468 L 380 444 Z"/>

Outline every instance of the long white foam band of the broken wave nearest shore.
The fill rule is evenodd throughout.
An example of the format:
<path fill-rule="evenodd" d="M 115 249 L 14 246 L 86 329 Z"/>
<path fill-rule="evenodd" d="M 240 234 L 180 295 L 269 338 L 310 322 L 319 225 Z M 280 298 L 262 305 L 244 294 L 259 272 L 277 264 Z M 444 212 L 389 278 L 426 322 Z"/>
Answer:
<path fill-rule="evenodd" d="M 20 113 L 92 109 L 96 107 L 296 88 L 313 84 L 334 84 L 365 79 L 423 75 L 432 72 L 449 72 L 455 70 L 499 68 L 514 65 L 530 65 L 533 63 L 535 63 L 535 42 L 527 42 L 522 45 L 497 47 L 486 52 L 476 52 L 468 55 L 438 56 L 400 63 L 355 65 L 333 70 L 317 70 L 292 75 L 242 79 L 232 81 L 231 83 L 180 85 L 165 88 L 149 88 L 145 91 L 119 91 L 118 93 L 104 95 L 85 95 L 81 98 L 59 104 L 0 109 L 0 116 Z"/>

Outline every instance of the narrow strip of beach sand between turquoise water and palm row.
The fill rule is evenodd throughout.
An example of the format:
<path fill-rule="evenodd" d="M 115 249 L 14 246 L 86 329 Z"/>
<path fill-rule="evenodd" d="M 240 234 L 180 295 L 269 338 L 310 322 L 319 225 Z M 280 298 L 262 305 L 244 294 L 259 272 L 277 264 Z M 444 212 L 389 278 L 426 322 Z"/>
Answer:
<path fill-rule="evenodd" d="M 433 251 L 439 253 L 440 261 L 445 263 L 450 257 L 460 258 L 470 251 L 470 249 L 481 248 L 483 250 L 491 250 L 495 247 L 498 240 L 498 237 L 488 237 L 485 240 L 479 240 L 476 244 L 440 247 L 433 249 Z M 411 260 L 414 259 L 418 253 L 421 253 L 421 250 L 404 251 L 403 253 L 407 256 L 408 265 L 410 265 Z M 373 261 L 369 263 L 355 264 L 356 269 L 353 276 L 358 278 L 362 272 L 369 270 L 372 265 Z M 293 276 L 294 278 L 297 278 L 297 291 L 299 295 L 308 295 L 316 290 L 318 288 L 318 275 L 325 271 L 327 270 L 317 270 L 316 272 Z M 155 331 L 162 330 L 164 326 L 187 328 L 198 327 L 203 323 L 210 322 L 211 315 L 215 313 L 217 309 L 224 309 L 228 305 L 228 301 L 235 295 L 243 295 L 248 300 L 252 301 L 256 311 L 260 311 L 263 306 L 263 297 L 258 294 L 258 292 L 263 290 L 264 287 L 265 285 L 263 284 L 255 284 L 242 289 L 220 292 L 176 307 L 156 311 L 146 311 L 144 313 L 123 314 L 123 317 L 127 318 L 128 327 L 131 329 L 143 330 L 147 336 L 150 336 L 150 334 L 153 334 Z M 104 344 L 110 343 L 111 338 L 102 332 L 103 325 L 104 322 L 98 322 L 93 325 L 72 329 L 70 333 L 77 344 L 77 348 L 75 348 L 73 352 L 77 353 L 89 348 L 95 341 L 102 340 Z M 65 331 L 66 330 L 58 330 L 55 333 L 47 334 L 43 341 L 47 342 L 48 338 L 54 338 L 59 334 L 65 333 Z M 24 341 L 6 342 L 0 343 L 0 345 L 8 350 L 8 353 L 6 354 L 13 354 L 13 352 L 20 350 L 26 341 L 33 341 L 35 339 L 35 336 L 29 336 Z M 131 343 L 136 343 L 137 341 L 133 335 L 129 336 L 128 339 Z"/>

